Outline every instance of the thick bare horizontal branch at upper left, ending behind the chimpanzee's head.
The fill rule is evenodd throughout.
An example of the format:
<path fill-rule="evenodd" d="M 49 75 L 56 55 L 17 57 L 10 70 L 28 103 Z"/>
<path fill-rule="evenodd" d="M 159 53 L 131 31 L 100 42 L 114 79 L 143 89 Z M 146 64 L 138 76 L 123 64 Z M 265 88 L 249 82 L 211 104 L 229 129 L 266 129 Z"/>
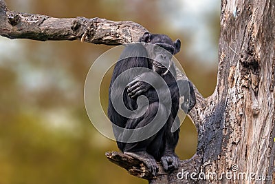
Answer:
<path fill-rule="evenodd" d="M 9 39 L 38 41 L 81 40 L 89 43 L 120 45 L 138 41 L 147 30 L 132 21 L 76 17 L 58 19 L 41 14 L 8 10 L 3 0 L 0 7 L 0 35 Z"/>

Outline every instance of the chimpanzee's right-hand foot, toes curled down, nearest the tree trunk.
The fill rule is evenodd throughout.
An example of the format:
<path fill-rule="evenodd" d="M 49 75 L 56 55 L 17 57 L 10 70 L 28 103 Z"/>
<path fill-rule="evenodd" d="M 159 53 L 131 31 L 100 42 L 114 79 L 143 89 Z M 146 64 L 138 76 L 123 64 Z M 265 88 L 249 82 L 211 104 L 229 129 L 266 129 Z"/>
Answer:
<path fill-rule="evenodd" d="M 166 172 L 177 170 L 177 168 L 179 167 L 179 157 L 177 157 L 176 154 L 166 154 L 162 156 L 160 161 L 162 162 L 162 165 Z"/>

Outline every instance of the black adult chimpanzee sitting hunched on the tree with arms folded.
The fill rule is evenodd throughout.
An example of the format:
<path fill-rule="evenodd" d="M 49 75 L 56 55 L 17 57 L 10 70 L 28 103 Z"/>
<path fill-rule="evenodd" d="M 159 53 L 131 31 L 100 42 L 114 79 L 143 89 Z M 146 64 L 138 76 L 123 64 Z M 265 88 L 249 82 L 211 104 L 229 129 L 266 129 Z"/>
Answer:
<path fill-rule="evenodd" d="M 124 154 L 144 161 L 153 175 L 158 172 L 155 160 L 161 161 L 166 171 L 177 169 L 179 158 L 175 154 L 175 146 L 179 139 L 179 129 L 171 132 L 171 128 L 173 123 L 179 123 L 177 117 L 179 96 L 185 94 L 186 91 L 190 93 L 185 112 L 189 112 L 196 101 L 192 83 L 188 80 L 175 80 L 175 65 L 171 59 L 173 54 L 179 52 L 180 47 L 179 39 L 172 41 L 164 34 L 144 33 L 140 43 L 126 45 L 113 70 L 109 88 L 108 116 L 114 124 L 113 133 L 118 147 Z M 133 68 L 137 70 L 127 72 Z M 147 70 L 139 73 L 140 68 Z M 162 90 L 164 86 L 160 83 L 159 77 L 164 79 L 168 93 L 167 90 L 166 92 Z M 146 96 L 148 105 L 139 103 L 138 98 L 141 95 Z M 172 103 L 170 108 L 168 108 L 169 101 L 159 96 L 167 96 L 167 99 L 170 96 Z M 129 110 L 128 114 L 120 112 L 123 105 L 115 108 L 116 103 L 121 103 L 120 101 Z M 137 108 L 142 110 L 142 113 L 135 112 Z M 157 113 L 161 114 L 160 119 L 155 119 Z M 152 133 L 150 132 L 152 129 L 156 131 L 148 137 L 145 136 L 148 133 L 146 131 L 139 133 L 126 131 L 147 127 L 154 120 L 157 124 L 147 128 L 149 130 L 146 131 L 149 133 Z M 158 123 L 158 121 L 164 121 L 164 123 Z M 156 126 L 158 127 L 155 128 Z M 145 138 L 139 139 L 143 135 Z M 133 141 L 135 138 L 137 141 Z"/>

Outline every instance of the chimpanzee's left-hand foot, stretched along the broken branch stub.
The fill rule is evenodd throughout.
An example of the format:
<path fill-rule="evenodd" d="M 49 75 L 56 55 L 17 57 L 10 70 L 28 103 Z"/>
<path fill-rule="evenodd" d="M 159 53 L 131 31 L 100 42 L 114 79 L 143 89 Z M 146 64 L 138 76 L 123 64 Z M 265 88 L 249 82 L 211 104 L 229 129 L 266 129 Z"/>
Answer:
<path fill-rule="evenodd" d="M 145 165 L 148 167 L 148 170 L 152 173 L 153 176 L 155 176 L 157 172 L 159 172 L 159 166 L 155 162 L 154 157 L 147 152 L 124 152 L 124 154 L 133 156 L 133 158 L 145 163 Z"/>

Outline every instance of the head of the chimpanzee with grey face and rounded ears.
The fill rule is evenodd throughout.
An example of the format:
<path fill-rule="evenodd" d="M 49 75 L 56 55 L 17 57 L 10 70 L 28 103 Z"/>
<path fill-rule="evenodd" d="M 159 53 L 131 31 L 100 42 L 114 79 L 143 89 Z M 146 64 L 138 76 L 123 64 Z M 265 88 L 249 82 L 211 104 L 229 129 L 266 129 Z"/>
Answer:
<path fill-rule="evenodd" d="M 144 47 L 148 52 L 148 57 L 151 59 L 153 70 L 159 74 L 166 74 L 172 64 L 173 54 L 180 50 L 181 43 L 179 39 L 174 42 L 165 34 L 150 34 L 146 32 L 141 41 L 145 42 Z"/>

